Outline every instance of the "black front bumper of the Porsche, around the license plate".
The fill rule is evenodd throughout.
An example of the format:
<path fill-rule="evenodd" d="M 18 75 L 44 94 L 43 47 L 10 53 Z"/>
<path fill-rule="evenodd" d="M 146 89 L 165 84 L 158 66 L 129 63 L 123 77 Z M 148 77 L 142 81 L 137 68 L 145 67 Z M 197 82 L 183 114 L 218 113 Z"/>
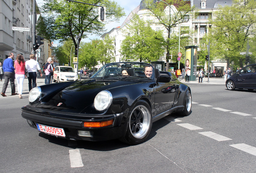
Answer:
<path fill-rule="evenodd" d="M 22 117 L 30 120 L 31 127 L 37 129 L 36 123 L 63 128 L 66 134 L 66 139 L 72 140 L 85 140 L 85 141 L 107 141 L 111 139 L 118 139 L 124 137 L 127 129 L 127 121 L 124 117 L 127 117 L 127 113 L 119 113 L 113 115 L 64 115 L 54 116 L 54 114 L 49 112 L 37 111 L 29 109 L 28 107 L 22 107 Z M 56 113 L 55 113 L 56 115 Z M 79 118 L 78 118 L 79 117 Z M 97 118 L 95 118 L 97 117 Z M 95 120 L 96 119 L 96 120 Z M 106 121 L 113 119 L 112 125 L 106 127 L 97 128 L 85 128 L 85 121 Z M 78 135 L 78 131 L 89 131 L 91 137 L 83 137 Z M 59 136 L 58 136 L 59 137 Z"/>

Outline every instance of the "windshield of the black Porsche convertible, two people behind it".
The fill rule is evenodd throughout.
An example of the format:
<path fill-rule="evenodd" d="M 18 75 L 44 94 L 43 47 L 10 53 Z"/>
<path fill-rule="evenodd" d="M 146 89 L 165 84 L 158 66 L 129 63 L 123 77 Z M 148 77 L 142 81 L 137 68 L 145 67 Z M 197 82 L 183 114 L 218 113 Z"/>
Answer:
<path fill-rule="evenodd" d="M 116 62 L 105 64 L 92 78 L 103 77 L 153 78 L 155 71 L 150 64 L 142 62 Z"/>

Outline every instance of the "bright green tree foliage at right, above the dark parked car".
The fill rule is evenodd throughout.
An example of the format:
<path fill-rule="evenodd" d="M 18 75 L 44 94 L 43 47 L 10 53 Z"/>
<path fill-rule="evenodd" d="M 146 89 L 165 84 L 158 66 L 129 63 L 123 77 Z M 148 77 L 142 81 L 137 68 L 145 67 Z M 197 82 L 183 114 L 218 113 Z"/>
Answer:
<path fill-rule="evenodd" d="M 211 40 L 211 54 L 226 60 L 228 67 L 232 61 L 242 67 L 245 55 L 240 52 L 246 52 L 248 40 L 255 38 L 256 3 L 255 0 L 234 0 L 233 3 L 213 14 L 212 32 L 207 37 Z"/>

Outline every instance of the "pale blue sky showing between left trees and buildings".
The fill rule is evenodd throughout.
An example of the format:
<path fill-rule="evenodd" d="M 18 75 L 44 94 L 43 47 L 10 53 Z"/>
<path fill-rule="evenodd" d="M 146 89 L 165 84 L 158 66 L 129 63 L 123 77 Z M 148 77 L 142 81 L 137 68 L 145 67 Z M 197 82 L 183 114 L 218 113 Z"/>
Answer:
<path fill-rule="evenodd" d="M 130 12 L 132 12 L 132 10 L 134 10 L 134 8 L 136 8 L 141 2 L 140 0 L 112 0 L 112 1 L 116 1 L 122 8 L 124 8 L 125 16 L 122 17 L 119 22 L 111 22 L 111 23 L 107 24 L 105 26 L 107 29 L 106 32 L 110 31 L 112 28 L 121 26 L 122 23 L 124 22 L 124 20 L 126 19 L 126 17 L 130 14 Z M 36 0 L 36 2 L 37 2 L 37 5 L 40 6 L 42 4 L 43 0 Z M 90 3 L 89 0 L 85 0 L 84 2 Z M 95 38 L 100 39 L 100 36 L 88 35 L 88 38 L 83 39 L 82 41 L 90 42 L 91 39 L 95 39 Z M 54 44 L 58 44 L 58 41 L 54 42 Z"/>

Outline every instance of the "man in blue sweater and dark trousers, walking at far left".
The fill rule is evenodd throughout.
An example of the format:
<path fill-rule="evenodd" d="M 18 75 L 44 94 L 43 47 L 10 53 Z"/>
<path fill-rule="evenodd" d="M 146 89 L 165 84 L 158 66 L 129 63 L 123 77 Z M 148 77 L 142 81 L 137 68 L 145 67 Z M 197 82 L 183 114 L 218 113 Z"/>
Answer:
<path fill-rule="evenodd" d="M 14 72 L 12 58 L 14 58 L 14 54 L 9 53 L 9 57 L 6 58 L 3 63 L 2 68 L 4 71 L 4 84 L 3 84 L 2 93 L 1 93 L 2 97 L 6 97 L 5 91 L 7 89 L 9 80 L 10 80 L 10 84 L 11 84 L 12 95 L 17 95 L 17 93 L 15 93 L 15 84 L 14 84 L 15 72 Z"/>

